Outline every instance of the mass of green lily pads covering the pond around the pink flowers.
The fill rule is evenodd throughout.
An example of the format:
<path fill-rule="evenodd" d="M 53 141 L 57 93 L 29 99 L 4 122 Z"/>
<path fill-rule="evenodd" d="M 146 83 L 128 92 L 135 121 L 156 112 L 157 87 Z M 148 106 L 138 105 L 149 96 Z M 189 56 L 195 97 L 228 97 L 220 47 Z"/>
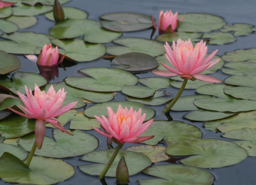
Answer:
<path fill-rule="evenodd" d="M 9 0 L 14 2 L 13 0 Z M 66 3 L 69 0 L 60 0 Z M 94 115 L 108 116 L 107 106 L 114 112 L 118 105 L 141 108 L 146 120 L 155 116 L 149 106 L 165 104 L 172 99 L 167 88 L 180 88 L 179 76 L 169 78 L 149 77 L 138 79 L 134 71 L 150 69 L 164 70 L 161 62 L 170 65 L 164 57 L 164 44 L 161 42 L 190 40 L 198 42 L 202 38 L 209 44 L 234 42 L 236 36 L 248 35 L 255 29 L 252 25 L 234 24 L 226 26 L 225 21 L 215 15 L 184 14 L 177 32 L 166 33 L 155 40 L 144 38 L 119 38 L 122 32 L 138 31 L 153 26 L 148 15 L 138 13 L 109 13 L 101 16 L 101 21 L 86 19 L 84 11 L 73 7 L 63 7 L 66 18 L 50 29 L 50 35 L 22 32 L 21 29 L 36 24 L 33 16 L 45 13 L 52 16 L 53 0 L 16 0 L 12 7 L 0 9 L 0 178 L 6 182 L 53 184 L 74 175 L 75 169 L 58 158 L 82 156 L 82 160 L 93 162 L 80 165 L 84 173 L 99 176 L 114 149 L 95 150 L 98 140 L 85 133 L 92 127 L 100 127 Z M 26 17 L 28 16 L 28 17 Z M 179 15 L 179 16 L 182 16 Z M 24 22 L 22 22 L 24 21 Z M 17 32 L 20 30 L 20 32 Z M 227 33 L 231 32 L 231 33 Z M 84 35 L 83 39 L 78 39 Z M 154 35 L 154 33 L 152 34 Z M 114 44 L 103 44 L 113 42 Z M 93 61 L 100 57 L 112 59 L 113 68 L 90 67 L 79 69 L 84 77 L 68 76 L 63 82 L 48 83 L 37 73 L 14 72 L 20 68 L 20 60 L 12 54 L 39 54 L 44 44 L 58 46 L 65 59 L 76 62 Z M 204 121 L 205 128 L 225 133 L 223 136 L 239 141 L 229 142 L 220 139 L 201 139 L 202 132 L 195 126 L 181 121 L 155 120 L 141 136 L 155 135 L 154 138 L 125 150 L 120 150 L 106 176 L 116 176 L 116 166 L 122 156 L 129 175 L 139 172 L 152 175 L 151 179 L 140 179 L 142 184 L 173 183 L 212 184 L 213 175 L 202 168 L 220 168 L 243 161 L 248 155 L 256 157 L 255 111 L 256 80 L 254 68 L 256 49 L 227 52 L 217 65 L 203 72 L 232 75 L 224 84 L 204 81 L 188 81 L 186 89 L 196 89 L 197 95 L 181 96 L 172 111 L 186 111 L 184 118 Z M 12 54 L 8 54 L 12 53 Z M 106 56 L 106 54 L 108 54 Z M 112 55 L 112 56 L 110 56 Z M 156 57 L 156 58 L 155 58 Z M 218 56 L 216 56 L 217 58 Z M 227 63 L 223 66 L 224 61 Z M 130 71 L 130 72 L 129 72 Z M 33 79 L 33 81 L 31 80 Z M 26 119 L 7 112 L 6 106 L 19 109 L 22 102 L 17 91 L 25 94 L 24 85 L 34 89 L 35 83 L 42 90 L 51 85 L 54 89 L 67 91 L 64 104 L 78 101 L 74 108 L 84 107 L 83 112 L 70 110 L 60 115 L 58 120 L 74 134 L 67 135 L 58 129 L 52 130 L 52 138 L 45 136 L 43 147 L 36 150 L 37 155 L 28 168 L 23 161 L 28 157 L 34 140 L 35 119 Z M 245 90 L 246 89 L 246 90 Z M 123 93 L 127 101 L 112 101 L 116 94 Z M 148 107 L 145 105 L 149 105 Z M 78 109 L 81 110 L 81 109 Z M 188 112 L 189 111 L 189 112 Z M 172 112 L 170 113 L 172 115 Z M 68 123 L 68 124 L 66 124 Z M 52 127 L 46 124 L 47 127 Z M 160 144 L 161 143 L 161 144 Z M 159 146 L 161 145 L 161 146 Z M 94 151 L 95 150 L 95 151 Z M 5 152 L 5 153 L 4 153 Z M 170 159 L 172 156 L 184 157 L 180 163 L 154 165 L 152 163 Z M 191 156 L 192 155 L 192 156 Z M 55 159 L 54 159 L 55 158 Z M 56 159 L 57 158 L 57 159 Z M 51 166 L 51 168 L 49 168 Z M 15 175 L 14 174 L 15 172 Z M 11 174 L 11 175 L 10 175 Z M 32 175 L 33 174 L 33 175 Z M 18 176 L 18 177 L 17 177 Z M 42 178 L 47 176 L 47 178 Z M 154 179 L 153 176 L 160 177 Z"/>

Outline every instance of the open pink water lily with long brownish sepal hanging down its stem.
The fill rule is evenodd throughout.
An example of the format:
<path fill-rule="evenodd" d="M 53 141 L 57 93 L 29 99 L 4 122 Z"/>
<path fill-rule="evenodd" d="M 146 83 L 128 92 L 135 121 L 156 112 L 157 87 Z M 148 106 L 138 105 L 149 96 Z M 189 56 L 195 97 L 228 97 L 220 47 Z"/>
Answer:
<path fill-rule="evenodd" d="M 66 92 L 64 92 L 64 88 L 59 89 L 56 93 L 53 86 L 51 85 L 47 93 L 45 93 L 45 91 L 41 91 L 40 88 L 35 84 L 34 95 L 32 94 L 31 89 L 29 89 L 28 92 L 28 88 L 26 86 L 25 90 L 27 93 L 27 97 L 19 91 L 17 91 L 17 93 L 25 107 L 22 105 L 19 106 L 26 114 L 10 107 L 7 108 L 25 118 L 36 119 L 35 137 L 36 145 L 39 150 L 41 149 L 44 141 L 45 122 L 51 123 L 52 126 L 60 129 L 62 132 L 73 135 L 65 130 L 60 122 L 55 118 L 57 116 L 60 116 L 61 114 L 64 114 L 65 112 L 68 112 L 77 104 L 77 102 L 72 102 L 61 108 L 63 101 L 66 97 Z"/>

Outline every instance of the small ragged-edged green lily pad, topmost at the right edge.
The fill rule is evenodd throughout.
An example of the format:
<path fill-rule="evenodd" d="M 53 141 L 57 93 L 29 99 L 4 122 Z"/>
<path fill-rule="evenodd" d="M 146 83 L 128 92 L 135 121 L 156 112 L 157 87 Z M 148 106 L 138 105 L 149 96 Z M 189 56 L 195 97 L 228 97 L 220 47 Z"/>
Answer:
<path fill-rule="evenodd" d="M 231 26 L 224 26 L 222 29 L 220 29 L 221 32 L 231 32 L 234 31 L 235 36 L 243 36 L 243 35 L 249 35 L 253 31 L 255 31 L 255 28 L 253 25 L 250 24 L 233 24 Z"/>

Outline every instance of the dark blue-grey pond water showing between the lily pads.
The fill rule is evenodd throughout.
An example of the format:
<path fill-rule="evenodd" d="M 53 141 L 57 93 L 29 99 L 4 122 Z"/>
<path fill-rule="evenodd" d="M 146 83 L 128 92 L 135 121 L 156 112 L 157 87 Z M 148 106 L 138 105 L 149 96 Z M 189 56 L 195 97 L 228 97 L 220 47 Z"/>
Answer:
<path fill-rule="evenodd" d="M 63 5 L 76 7 L 81 10 L 84 10 L 88 13 L 87 19 L 94 19 L 100 20 L 99 17 L 105 13 L 112 13 L 112 12 L 136 12 L 142 13 L 146 15 L 153 15 L 156 23 L 158 22 L 158 15 L 159 11 L 163 9 L 172 10 L 173 12 L 179 13 L 208 13 L 213 15 L 218 15 L 222 17 L 228 26 L 234 23 L 246 23 L 251 25 L 256 25 L 256 1 L 255 0 L 214 0 L 214 1 L 205 1 L 205 0 L 94 0 L 94 1 L 84 1 L 84 0 L 71 0 L 70 2 Z M 54 22 L 49 21 L 45 18 L 44 14 L 36 16 L 38 22 L 33 27 L 23 29 L 22 31 L 33 31 L 35 33 L 43 33 L 49 34 L 49 30 L 51 27 L 54 26 Z M 124 32 L 121 38 L 125 37 L 140 37 L 150 39 L 152 29 L 146 29 L 142 31 L 136 32 Z M 158 33 L 153 35 L 153 39 L 158 36 Z M 79 37 L 82 38 L 82 37 Z M 248 49 L 248 48 L 255 48 L 256 47 L 256 34 L 255 32 L 248 35 L 248 36 L 239 36 L 236 37 L 236 42 L 232 42 L 225 45 L 208 45 L 208 53 L 213 52 L 214 50 L 218 49 L 217 55 L 222 56 L 226 52 L 231 52 L 237 49 Z M 107 43 L 106 45 L 115 45 L 112 43 Z M 21 60 L 21 68 L 18 70 L 20 72 L 34 72 L 39 73 L 39 70 L 35 63 L 26 59 L 23 55 L 17 55 Z M 67 76 L 83 76 L 81 73 L 78 72 L 79 69 L 84 69 L 87 67 L 112 67 L 111 62 L 109 60 L 104 60 L 99 58 L 94 61 L 90 62 L 74 62 L 64 60 L 63 62 L 65 66 L 65 70 L 59 66 L 59 76 L 55 77 L 54 80 L 50 81 L 53 82 L 61 82 Z M 15 72 L 13 72 L 15 73 Z M 12 73 L 12 74 L 13 74 Z M 146 78 L 146 77 L 156 77 L 157 75 L 150 72 L 150 70 L 142 73 L 132 72 L 138 78 Z M 211 76 L 217 77 L 218 79 L 224 81 L 229 75 L 222 73 L 220 70 L 218 72 L 212 74 Z M 171 93 L 172 95 L 176 95 L 179 89 L 171 87 L 165 89 L 167 92 Z M 195 89 L 189 90 L 185 89 L 182 96 L 184 95 L 195 95 Z M 115 98 L 112 101 L 125 101 L 125 95 L 122 92 L 118 92 Z M 91 106 L 92 104 L 87 104 L 85 108 Z M 165 108 L 165 105 L 158 105 L 158 106 L 148 106 L 153 108 L 156 111 L 154 120 L 181 120 L 185 123 L 189 123 L 191 125 L 196 126 L 199 128 L 203 136 L 202 138 L 217 138 L 232 141 L 232 139 L 227 139 L 221 137 L 220 133 L 215 133 L 213 131 L 207 130 L 203 126 L 203 122 L 191 122 L 188 119 L 183 118 L 182 116 L 187 112 L 173 112 L 164 114 L 161 111 Z M 79 111 L 83 111 L 84 108 L 78 109 Z M 52 129 L 47 128 L 46 135 L 52 136 L 51 133 Z M 107 149 L 106 138 L 94 130 L 86 130 L 86 133 L 92 134 L 93 136 L 99 139 L 99 147 L 96 150 L 104 150 Z M 136 144 L 133 143 L 125 143 L 123 148 L 127 148 L 130 146 L 134 146 Z M 113 145 L 116 146 L 115 144 Z M 90 162 L 83 161 L 79 158 L 82 156 L 71 157 L 71 158 L 63 158 L 65 162 L 73 165 L 75 168 L 75 175 L 69 178 L 66 181 L 59 182 L 57 184 L 60 185 L 77 185 L 77 184 L 100 184 L 100 181 L 97 179 L 97 176 L 90 176 L 83 173 L 79 168 L 78 165 L 86 165 L 91 164 Z M 171 158 L 170 160 L 164 162 L 158 162 L 155 165 L 161 164 L 169 164 L 169 163 L 179 163 L 179 157 Z M 207 171 L 211 172 L 214 177 L 214 184 L 216 185 L 226 185 L 226 184 L 256 184 L 256 158 L 255 157 L 247 157 L 241 163 L 236 165 L 227 166 L 223 168 L 216 168 L 216 169 L 206 169 Z M 138 179 L 147 179 L 152 178 L 152 176 L 138 173 L 136 175 L 130 176 L 130 185 L 139 184 L 137 181 Z M 116 184 L 115 178 L 105 177 L 105 181 L 108 185 Z M 12 184 L 12 183 L 4 183 L 4 181 L 0 181 L 0 184 Z"/>

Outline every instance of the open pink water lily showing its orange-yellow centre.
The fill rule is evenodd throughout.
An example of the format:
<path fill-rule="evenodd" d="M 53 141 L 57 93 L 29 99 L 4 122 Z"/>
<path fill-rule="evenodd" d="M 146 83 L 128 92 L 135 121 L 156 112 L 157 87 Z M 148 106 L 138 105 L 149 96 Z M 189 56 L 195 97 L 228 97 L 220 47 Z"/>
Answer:
<path fill-rule="evenodd" d="M 99 128 L 92 127 L 100 134 L 112 138 L 113 141 L 118 144 L 124 144 L 125 142 L 140 143 L 154 137 L 154 135 L 138 137 L 145 132 L 153 122 L 153 119 L 150 119 L 143 123 L 146 114 L 144 113 L 141 116 L 141 109 L 136 112 L 133 111 L 132 107 L 129 110 L 127 107 L 123 109 L 123 107 L 119 105 L 117 112 L 114 113 L 110 107 L 107 108 L 108 119 L 105 116 L 102 116 L 102 118 L 94 116 L 105 130 L 102 131 Z"/>

